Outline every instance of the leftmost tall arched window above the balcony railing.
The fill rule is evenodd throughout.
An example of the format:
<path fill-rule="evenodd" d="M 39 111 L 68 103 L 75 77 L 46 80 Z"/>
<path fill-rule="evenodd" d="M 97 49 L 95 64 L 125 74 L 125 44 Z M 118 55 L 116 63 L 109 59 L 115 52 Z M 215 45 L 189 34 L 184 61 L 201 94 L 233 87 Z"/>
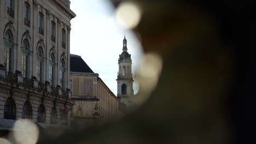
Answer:
<path fill-rule="evenodd" d="M 4 47 L 4 67 L 6 71 L 12 71 L 12 55 L 13 55 L 13 34 L 11 31 L 5 33 L 5 47 Z"/>

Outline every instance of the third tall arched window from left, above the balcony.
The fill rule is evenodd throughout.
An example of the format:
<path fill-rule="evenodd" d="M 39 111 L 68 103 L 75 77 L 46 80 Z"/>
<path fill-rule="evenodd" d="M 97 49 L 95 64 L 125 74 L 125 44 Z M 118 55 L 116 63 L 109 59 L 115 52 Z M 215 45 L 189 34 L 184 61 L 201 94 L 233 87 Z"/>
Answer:
<path fill-rule="evenodd" d="M 43 49 L 38 47 L 37 50 L 37 80 L 39 82 L 43 81 Z"/>

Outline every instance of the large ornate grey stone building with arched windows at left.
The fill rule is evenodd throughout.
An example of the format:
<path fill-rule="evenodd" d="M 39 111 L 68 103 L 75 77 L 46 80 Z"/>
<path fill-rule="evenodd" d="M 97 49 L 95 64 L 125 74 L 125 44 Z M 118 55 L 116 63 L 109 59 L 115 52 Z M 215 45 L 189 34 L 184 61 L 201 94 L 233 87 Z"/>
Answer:
<path fill-rule="evenodd" d="M 69 33 L 75 17 L 69 5 L 68 0 L 0 1 L 0 121 L 68 124 Z"/>

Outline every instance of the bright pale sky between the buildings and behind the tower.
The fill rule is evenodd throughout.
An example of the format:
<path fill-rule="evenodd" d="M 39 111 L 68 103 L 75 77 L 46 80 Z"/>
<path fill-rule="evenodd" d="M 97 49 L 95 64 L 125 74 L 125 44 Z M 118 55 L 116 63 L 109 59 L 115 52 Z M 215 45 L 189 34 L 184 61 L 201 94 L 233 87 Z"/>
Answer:
<path fill-rule="evenodd" d="M 123 52 L 124 33 L 132 58 L 133 77 L 142 56 L 137 37 L 117 24 L 114 7 L 108 0 L 71 0 L 71 9 L 77 14 L 71 20 L 71 53 L 82 56 L 117 95 L 118 58 Z M 133 89 L 136 94 L 136 82 Z"/>

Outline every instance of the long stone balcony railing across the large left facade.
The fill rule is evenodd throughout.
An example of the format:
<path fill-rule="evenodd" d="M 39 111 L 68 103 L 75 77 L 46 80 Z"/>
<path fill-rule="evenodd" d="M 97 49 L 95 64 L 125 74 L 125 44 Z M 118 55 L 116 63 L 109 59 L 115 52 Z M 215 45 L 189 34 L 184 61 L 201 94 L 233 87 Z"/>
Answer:
<path fill-rule="evenodd" d="M 32 79 L 23 77 L 20 71 L 15 73 L 5 72 L 3 65 L 0 64 L 0 81 L 5 85 L 16 86 L 26 91 L 33 91 L 39 94 L 49 95 L 53 98 L 69 99 L 71 98 L 71 91 L 67 89 L 63 90 L 60 86 L 52 87 L 50 82 L 41 83 L 38 82 L 36 77 L 32 76 Z M 23 87 L 23 88 L 22 88 Z"/>

